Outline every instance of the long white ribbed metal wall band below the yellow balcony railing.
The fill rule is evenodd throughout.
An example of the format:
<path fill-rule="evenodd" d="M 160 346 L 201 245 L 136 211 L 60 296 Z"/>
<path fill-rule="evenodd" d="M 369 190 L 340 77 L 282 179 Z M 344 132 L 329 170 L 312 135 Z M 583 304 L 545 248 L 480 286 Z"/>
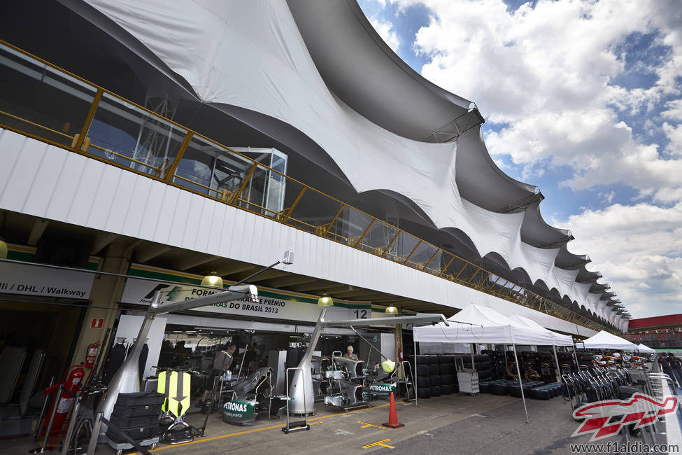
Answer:
<path fill-rule="evenodd" d="M 103 162 L 0 130 L 0 208 L 192 251 L 462 308 L 520 314 L 546 328 L 595 332 Z M 4 184 L 3 184 L 4 182 Z M 45 203 L 48 201 L 48 203 Z"/>

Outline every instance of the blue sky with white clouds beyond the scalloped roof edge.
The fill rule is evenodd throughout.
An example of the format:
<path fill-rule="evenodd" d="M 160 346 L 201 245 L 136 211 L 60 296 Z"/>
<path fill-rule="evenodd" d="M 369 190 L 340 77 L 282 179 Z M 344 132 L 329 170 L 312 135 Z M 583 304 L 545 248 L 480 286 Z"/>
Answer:
<path fill-rule="evenodd" d="M 359 0 L 634 317 L 682 313 L 682 1 Z"/>

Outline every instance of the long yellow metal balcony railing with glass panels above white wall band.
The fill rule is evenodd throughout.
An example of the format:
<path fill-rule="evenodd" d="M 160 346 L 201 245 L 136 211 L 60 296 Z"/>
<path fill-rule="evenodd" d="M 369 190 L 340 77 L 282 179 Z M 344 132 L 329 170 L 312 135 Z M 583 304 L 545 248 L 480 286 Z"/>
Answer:
<path fill-rule="evenodd" d="M 593 321 L 581 314 L 568 309 L 557 302 L 542 297 L 537 293 L 532 292 L 523 286 L 520 286 L 511 281 L 503 279 L 501 276 L 493 274 L 488 270 L 479 267 L 478 265 L 461 258 L 454 253 L 450 253 L 443 248 L 439 248 L 434 244 L 418 239 L 395 225 L 391 225 L 385 221 L 381 221 L 374 216 L 366 214 L 360 210 L 350 207 L 348 204 L 337 200 L 336 198 L 326 195 L 325 193 L 315 190 L 307 186 L 301 181 L 297 181 L 290 176 L 278 172 L 276 169 L 271 169 L 252 158 L 234 151 L 232 148 L 223 146 L 212 139 L 205 137 L 197 132 L 189 130 L 178 123 L 173 122 L 159 114 L 139 106 L 134 102 L 119 97 L 113 92 L 109 92 L 103 87 L 94 85 L 87 80 L 69 73 L 64 69 L 46 62 L 43 59 L 35 57 L 13 45 L 0 41 L 0 57 L 3 57 L 2 52 L 10 58 L 23 59 L 20 63 L 36 66 L 48 67 L 57 75 L 63 75 L 69 81 L 77 81 L 85 92 L 92 93 L 92 102 L 87 106 L 87 112 L 79 112 L 85 118 L 80 132 L 73 136 L 64 132 L 59 132 L 46 125 L 41 125 L 37 120 L 24 118 L 17 113 L 6 111 L 6 106 L 0 105 L 0 127 L 6 130 L 12 130 L 28 137 L 44 141 L 48 144 L 65 148 L 73 153 L 85 155 L 88 158 L 106 162 L 109 165 L 121 167 L 129 172 L 135 172 L 150 179 L 162 181 L 168 185 L 182 188 L 183 190 L 197 193 L 212 200 L 232 205 L 242 210 L 249 211 L 259 216 L 265 216 L 272 221 L 290 225 L 294 228 L 310 232 L 313 235 L 324 237 L 330 241 L 357 248 L 369 254 L 378 255 L 386 260 L 399 262 L 406 267 L 419 270 L 423 273 L 439 276 L 441 279 L 460 283 L 462 286 L 475 288 L 483 293 L 495 295 L 497 297 L 522 304 L 526 307 L 531 307 L 539 311 L 544 311 L 547 314 L 563 318 L 572 323 L 578 323 L 587 328 L 594 330 L 611 330 L 597 321 Z M 6 59 L 7 60 L 7 59 Z M 2 63 L 0 61 L 0 67 Z M 13 69 L 16 68 L 16 63 Z M 28 71 L 28 70 L 27 70 Z M 55 76 L 57 77 L 57 76 Z M 59 86 L 59 85 L 57 85 Z M 3 103 L 3 94 L 0 93 L 0 103 Z M 83 99 L 81 94 L 80 99 Z M 90 100 L 90 95 L 87 97 Z M 103 104 L 106 106 L 103 107 Z M 116 104 L 118 103 L 118 104 Z M 4 104 L 4 103 L 3 103 Z M 82 106 L 81 106 L 82 107 Z M 101 111 L 100 111 L 101 109 Z M 66 111 L 64 111 L 66 112 Z M 98 115 L 101 114 L 101 118 Z M 66 115 L 74 115 L 73 113 L 66 113 Z M 118 116 L 115 120 L 107 120 L 109 117 Z M 9 125 L 6 119 L 13 120 L 14 124 Z M 132 120 L 131 120 L 132 119 Z M 139 127 L 139 136 L 143 134 L 153 134 L 162 132 L 166 134 L 165 144 L 166 151 L 171 149 L 171 138 L 176 138 L 177 151 L 175 155 L 166 153 L 163 159 L 155 155 L 151 149 L 146 150 L 148 155 L 154 156 L 155 159 L 161 161 L 161 164 L 150 164 L 141 159 L 128 156 L 127 153 L 132 151 L 115 151 L 113 147 L 102 146 L 96 144 L 101 139 L 103 133 L 96 133 L 92 131 L 92 125 L 97 123 L 98 127 L 106 127 L 108 130 L 104 134 L 108 134 L 108 139 L 121 140 L 125 137 L 124 132 L 117 130 L 116 125 L 124 121 L 137 122 L 135 125 Z M 64 120 L 65 125 L 70 125 L 71 122 Z M 78 122 L 73 122 L 77 125 Z M 27 125 L 27 127 L 22 127 Z M 30 130 L 29 127 L 33 127 Z M 30 131 L 29 131 L 30 130 Z M 46 137 L 47 134 L 41 132 L 57 135 L 68 139 L 66 144 Z M 90 134 L 90 135 L 89 135 Z M 182 141 L 180 141 L 180 137 Z M 209 184 L 192 179 L 189 174 L 183 174 L 180 171 L 180 166 L 183 164 L 183 157 L 190 147 L 190 143 L 194 140 L 203 140 L 205 144 L 215 147 L 215 150 L 222 155 L 229 155 L 235 160 L 241 160 L 249 167 L 248 173 L 245 172 L 243 181 L 239 187 L 227 189 L 212 188 Z M 105 141 L 106 142 L 106 141 Z M 92 153 L 92 149 L 99 151 Z M 118 162 L 122 160 L 126 164 Z M 246 169 L 246 168 L 245 168 Z M 248 199 L 244 195 L 245 189 L 249 182 L 253 183 L 256 169 L 261 169 L 264 172 L 269 172 L 270 175 L 278 175 L 286 183 L 286 189 L 293 195 L 292 190 L 296 196 L 293 198 L 290 206 L 287 209 L 276 211 L 262 204 L 258 204 Z M 297 192 L 297 190 L 300 188 Z M 306 214 L 297 211 L 299 207 L 310 207 L 308 198 L 321 198 L 325 204 L 330 204 L 334 207 L 329 211 L 329 214 L 323 216 L 306 216 Z M 314 204 L 313 204 L 314 205 Z M 348 232 L 345 232 L 347 229 Z M 339 230 L 341 232 L 339 232 Z M 353 232 L 351 232 L 353 230 Z M 374 234 L 373 234 L 374 233 Z"/>

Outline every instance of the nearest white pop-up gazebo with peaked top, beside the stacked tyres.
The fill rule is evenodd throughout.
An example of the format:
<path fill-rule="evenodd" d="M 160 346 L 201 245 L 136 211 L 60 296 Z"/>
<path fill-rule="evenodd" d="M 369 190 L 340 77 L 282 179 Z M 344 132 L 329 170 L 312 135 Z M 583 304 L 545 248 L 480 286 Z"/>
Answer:
<path fill-rule="evenodd" d="M 414 327 L 412 332 L 415 345 L 417 342 L 511 344 L 516 358 L 516 344 L 553 345 L 555 342 L 553 332 L 550 330 L 535 330 L 525 323 L 511 320 L 492 308 L 479 307 L 473 303 L 464 307 L 455 316 L 448 318 L 448 324 L 437 323 L 424 327 Z M 416 351 L 415 346 L 415 375 L 417 370 Z M 518 360 L 516 361 L 516 371 L 526 422 L 530 423 Z"/>

